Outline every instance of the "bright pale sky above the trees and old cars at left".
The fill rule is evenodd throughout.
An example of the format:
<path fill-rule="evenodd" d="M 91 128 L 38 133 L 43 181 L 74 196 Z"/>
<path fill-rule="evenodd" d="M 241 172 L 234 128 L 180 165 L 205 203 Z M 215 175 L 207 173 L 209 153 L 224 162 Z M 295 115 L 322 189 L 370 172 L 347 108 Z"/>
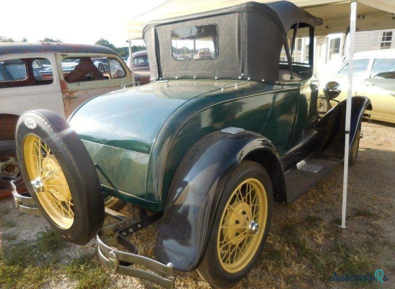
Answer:
<path fill-rule="evenodd" d="M 46 37 L 66 43 L 94 44 L 100 38 L 127 46 L 127 22 L 165 0 L 3 0 L 0 36 L 38 42 Z M 134 40 L 133 45 L 143 41 Z"/>

